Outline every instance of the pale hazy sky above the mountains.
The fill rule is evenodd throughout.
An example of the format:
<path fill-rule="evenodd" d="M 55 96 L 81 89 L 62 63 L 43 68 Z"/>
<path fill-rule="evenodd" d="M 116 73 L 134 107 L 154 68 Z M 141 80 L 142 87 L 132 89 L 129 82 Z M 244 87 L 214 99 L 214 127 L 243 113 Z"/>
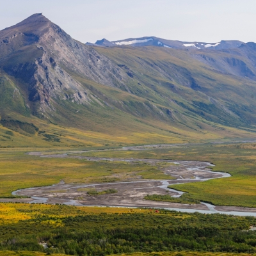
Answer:
<path fill-rule="evenodd" d="M 255 0 L 0 0 L 0 4 L 0 30 L 42 12 L 83 43 L 142 36 L 256 42 Z"/>

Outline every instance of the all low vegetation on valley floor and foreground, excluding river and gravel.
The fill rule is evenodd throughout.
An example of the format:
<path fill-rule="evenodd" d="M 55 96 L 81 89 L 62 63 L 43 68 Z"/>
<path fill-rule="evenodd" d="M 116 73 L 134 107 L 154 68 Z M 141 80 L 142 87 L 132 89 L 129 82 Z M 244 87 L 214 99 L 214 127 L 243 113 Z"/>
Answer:
<path fill-rule="evenodd" d="M 202 200 L 216 205 L 255 207 L 255 149 L 253 143 L 209 144 L 83 154 L 134 159 L 211 161 L 216 164 L 211 167 L 213 171 L 229 172 L 232 177 L 171 186 L 188 192 L 180 198 L 148 195 L 146 199 L 171 200 L 167 202 L 180 200 L 179 203 L 182 204 L 196 204 L 198 200 Z M 114 175 L 124 180 L 127 174 L 131 178 L 144 172 L 143 175 L 146 175 L 146 170 L 159 172 L 157 166 L 145 163 L 36 157 L 24 155 L 19 150 L 3 150 L 2 153 L 0 191 L 6 196 L 10 196 L 10 191 L 20 188 L 19 186 L 43 186 L 60 180 L 92 182 L 97 179 L 112 179 Z M 92 189 L 85 189 L 89 195 L 93 192 Z M 93 193 L 97 196 L 102 192 L 106 193 L 95 190 Z M 10 253 L 26 251 L 31 253 L 28 256 L 32 256 L 33 252 L 77 256 L 122 253 L 143 256 L 152 255 L 153 252 L 173 256 L 256 253 L 256 232 L 250 230 L 250 227 L 256 227 L 256 218 L 191 214 L 164 209 L 157 209 L 156 212 L 156 209 L 150 211 L 117 207 L 0 204 L 0 250 Z M 40 245 L 43 242 L 49 248 L 43 248 Z M 44 254 L 38 256 L 41 255 Z"/>

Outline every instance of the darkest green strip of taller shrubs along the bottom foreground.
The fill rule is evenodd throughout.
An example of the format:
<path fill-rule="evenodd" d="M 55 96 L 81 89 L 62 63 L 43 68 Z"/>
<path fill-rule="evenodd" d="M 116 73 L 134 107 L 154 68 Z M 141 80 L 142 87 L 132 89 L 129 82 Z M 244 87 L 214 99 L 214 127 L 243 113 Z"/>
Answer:
<path fill-rule="evenodd" d="M 56 230 L 57 231 L 57 230 Z M 130 252 L 196 252 L 255 253 L 255 232 L 220 231 L 207 227 L 115 228 L 112 230 L 67 231 L 44 234 L 53 248 L 43 249 L 38 237 L 18 237 L 1 245 L 1 250 L 30 250 L 69 255 L 109 255 Z M 42 239 L 42 237 L 40 237 Z"/>

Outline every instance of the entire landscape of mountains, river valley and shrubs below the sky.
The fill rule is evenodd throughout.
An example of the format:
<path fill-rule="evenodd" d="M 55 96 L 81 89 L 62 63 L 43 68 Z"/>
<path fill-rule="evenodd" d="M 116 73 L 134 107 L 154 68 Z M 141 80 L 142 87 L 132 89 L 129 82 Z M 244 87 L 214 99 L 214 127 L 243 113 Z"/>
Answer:
<path fill-rule="evenodd" d="M 256 255 L 255 109 L 253 42 L 1 30 L 0 256 Z"/>

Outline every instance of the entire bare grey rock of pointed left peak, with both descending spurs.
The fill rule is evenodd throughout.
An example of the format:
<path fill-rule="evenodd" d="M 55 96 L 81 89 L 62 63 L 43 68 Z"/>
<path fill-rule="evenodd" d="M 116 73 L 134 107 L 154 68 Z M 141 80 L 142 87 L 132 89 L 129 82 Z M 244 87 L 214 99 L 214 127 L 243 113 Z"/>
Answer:
<path fill-rule="evenodd" d="M 40 102 L 42 112 L 56 99 L 91 101 L 65 70 L 108 86 L 124 86 L 129 79 L 113 61 L 72 39 L 42 13 L 0 31 L 0 52 L 3 70 L 28 84 L 29 100 Z"/>

